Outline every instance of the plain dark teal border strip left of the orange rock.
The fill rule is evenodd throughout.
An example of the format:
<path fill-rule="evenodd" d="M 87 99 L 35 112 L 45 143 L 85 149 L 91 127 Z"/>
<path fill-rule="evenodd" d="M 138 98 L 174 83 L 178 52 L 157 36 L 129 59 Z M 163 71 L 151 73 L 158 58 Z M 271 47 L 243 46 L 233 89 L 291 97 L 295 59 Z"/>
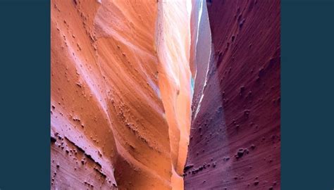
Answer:
<path fill-rule="evenodd" d="M 0 0 L 0 72 L 0 189 L 50 189 L 48 0 Z"/>

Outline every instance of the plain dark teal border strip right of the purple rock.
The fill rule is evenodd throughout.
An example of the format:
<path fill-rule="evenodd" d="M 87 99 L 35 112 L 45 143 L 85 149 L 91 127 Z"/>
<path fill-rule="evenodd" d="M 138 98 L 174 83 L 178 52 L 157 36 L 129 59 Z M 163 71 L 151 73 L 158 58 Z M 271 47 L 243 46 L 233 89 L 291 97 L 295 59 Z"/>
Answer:
<path fill-rule="evenodd" d="M 282 189 L 334 189 L 334 1 L 281 0 Z"/>

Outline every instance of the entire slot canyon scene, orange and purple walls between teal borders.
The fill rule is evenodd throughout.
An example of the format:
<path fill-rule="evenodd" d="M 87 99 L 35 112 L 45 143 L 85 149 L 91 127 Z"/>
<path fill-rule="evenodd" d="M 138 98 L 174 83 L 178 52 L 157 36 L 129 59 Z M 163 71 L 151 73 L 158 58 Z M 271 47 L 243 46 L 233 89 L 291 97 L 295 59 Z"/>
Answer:
<path fill-rule="evenodd" d="M 280 189 L 279 0 L 51 0 L 51 189 Z"/>

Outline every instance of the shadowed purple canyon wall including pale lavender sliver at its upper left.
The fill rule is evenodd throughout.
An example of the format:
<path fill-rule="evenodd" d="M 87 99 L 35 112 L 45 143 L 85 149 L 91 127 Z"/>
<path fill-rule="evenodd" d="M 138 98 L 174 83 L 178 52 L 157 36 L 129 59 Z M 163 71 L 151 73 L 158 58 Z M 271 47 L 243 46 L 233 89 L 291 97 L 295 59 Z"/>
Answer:
<path fill-rule="evenodd" d="M 280 189 L 280 1 L 200 5 L 185 189 Z"/>

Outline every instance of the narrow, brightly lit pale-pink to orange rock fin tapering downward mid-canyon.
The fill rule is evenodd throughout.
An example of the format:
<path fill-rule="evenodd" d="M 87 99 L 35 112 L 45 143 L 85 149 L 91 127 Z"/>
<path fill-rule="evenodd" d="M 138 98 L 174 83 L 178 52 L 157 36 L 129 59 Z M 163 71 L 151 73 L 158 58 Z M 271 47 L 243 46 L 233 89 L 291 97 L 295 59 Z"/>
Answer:
<path fill-rule="evenodd" d="M 171 142 L 172 184 L 183 189 L 191 120 L 190 1 L 160 1 L 156 48 L 159 88 Z"/>

